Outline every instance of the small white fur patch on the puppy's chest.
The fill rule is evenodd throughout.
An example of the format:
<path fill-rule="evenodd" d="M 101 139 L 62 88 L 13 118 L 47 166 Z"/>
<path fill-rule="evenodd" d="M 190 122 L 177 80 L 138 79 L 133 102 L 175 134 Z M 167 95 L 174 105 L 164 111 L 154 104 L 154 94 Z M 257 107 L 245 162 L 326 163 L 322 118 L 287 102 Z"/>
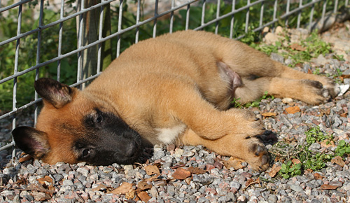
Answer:
<path fill-rule="evenodd" d="M 178 137 L 186 129 L 185 124 L 175 125 L 174 127 L 169 128 L 156 128 L 158 133 L 158 140 L 163 144 L 172 144 L 174 139 Z"/>

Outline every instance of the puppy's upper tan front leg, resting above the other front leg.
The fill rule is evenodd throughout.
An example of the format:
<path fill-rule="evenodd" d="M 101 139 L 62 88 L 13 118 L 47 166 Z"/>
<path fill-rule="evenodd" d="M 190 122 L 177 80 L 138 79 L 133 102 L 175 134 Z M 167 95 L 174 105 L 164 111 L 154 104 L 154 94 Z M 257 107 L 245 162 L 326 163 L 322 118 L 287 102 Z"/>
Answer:
<path fill-rule="evenodd" d="M 181 93 L 177 94 L 177 90 L 181 90 Z M 256 119 L 251 111 L 219 111 L 195 88 L 183 87 L 177 90 L 171 92 L 172 98 L 174 95 L 179 97 L 169 99 L 167 109 L 172 113 L 172 117 L 181 120 L 203 139 L 216 140 L 228 135 L 244 139 L 265 131 L 261 120 Z"/>

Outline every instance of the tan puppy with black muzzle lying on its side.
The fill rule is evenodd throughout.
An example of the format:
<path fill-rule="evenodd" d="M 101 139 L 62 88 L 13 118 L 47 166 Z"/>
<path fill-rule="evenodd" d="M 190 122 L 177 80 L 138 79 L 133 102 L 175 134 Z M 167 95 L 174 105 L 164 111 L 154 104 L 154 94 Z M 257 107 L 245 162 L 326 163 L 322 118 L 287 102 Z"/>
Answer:
<path fill-rule="evenodd" d="M 275 62 L 238 41 L 179 31 L 125 50 L 80 91 L 55 80 L 34 83 L 43 98 L 36 128 L 13 130 L 16 145 L 50 164 L 131 164 L 144 143 L 203 145 L 265 170 L 269 155 L 254 113 L 229 109 L 261 97 L 320 104 L 335 85 Z"/>

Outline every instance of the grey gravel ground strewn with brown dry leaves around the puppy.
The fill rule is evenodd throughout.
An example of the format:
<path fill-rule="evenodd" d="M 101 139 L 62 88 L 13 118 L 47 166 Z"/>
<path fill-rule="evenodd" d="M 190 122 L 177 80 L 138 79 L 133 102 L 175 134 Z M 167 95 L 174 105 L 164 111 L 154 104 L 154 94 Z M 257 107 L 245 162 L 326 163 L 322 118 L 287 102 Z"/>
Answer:
<path fill-rule="evenodd" d="M 311 63 L 297 66 L 300 71 L 336 74 L 342 71 L 340 85 L 350 83 L 350 22 L 323 33 L 334 54 L 317 57 Z M 293 31 L 299 38 L 303 31 Z M 288 64 L 288 59 L 272 55 Z M 338 78 L 339 79 L 339 78 Z M 288 113 L 293 106 L 300 111 Z M 295 107 L 294 107 L 295 108 Z M 279 141 L 291 146 L 305 143 L 310 127 L 349 143 L 350 97 L 346 92 L 332 102 L 308 106 L 293 99 L 262 99 L 259 107 L 250 107 Z M 266 113 L 275 116 L 266 116 Z M 20 125 L 32 125 L 22 116 Z M 0 139 L 10 139 L 10 121 L 0 120 Z M 267 148 L 274 148 L 267 143 Z M 335 146 L 316 142 L 311 150 L 332 153 Z M 221 157 L 202 146 L 155 146 L 146 164 L 90 166 L 85 163 L 47 165 L 38 160 L 20 160 L 21 152 L 11 164 L 8 151 L 0 152 L 0 202 L 350 202 L 350 158 L 344 165 L 327 162 L 321 171 L 305 170 L 298 176 L 283 179 L 272 169 L 254 172 L 246 162 Z M 281 163 L 273 163 L 275 166 Z"/>

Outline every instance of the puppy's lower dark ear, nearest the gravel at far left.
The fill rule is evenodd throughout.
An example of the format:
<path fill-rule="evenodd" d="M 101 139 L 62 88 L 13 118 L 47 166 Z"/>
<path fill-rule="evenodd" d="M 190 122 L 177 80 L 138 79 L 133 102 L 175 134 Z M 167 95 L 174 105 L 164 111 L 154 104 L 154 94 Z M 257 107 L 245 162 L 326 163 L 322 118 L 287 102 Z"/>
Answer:
<path fill-rule="evenodd" d="M 16 146 L 33 158 L 43 158 L 50 151 L 48 137 L 45 132 L 33 127 L 17 127 L 12 131 Z"/>

